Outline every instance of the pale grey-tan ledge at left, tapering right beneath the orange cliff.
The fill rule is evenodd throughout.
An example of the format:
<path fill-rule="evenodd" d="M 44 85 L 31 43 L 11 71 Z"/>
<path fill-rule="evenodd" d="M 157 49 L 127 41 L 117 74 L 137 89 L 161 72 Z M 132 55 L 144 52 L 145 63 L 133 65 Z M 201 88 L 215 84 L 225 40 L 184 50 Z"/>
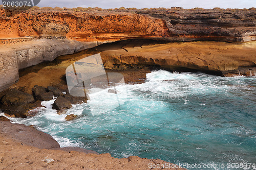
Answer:
<path fill-rule="evenodd" d="M 0 49 L 0 91 L 18 81 L 18 70 L 44 61 L 53 61 L 60 55 L 73 54 L 97 45 L 97 42 L 79 42 L 66 39 L 37 39 Z"/>

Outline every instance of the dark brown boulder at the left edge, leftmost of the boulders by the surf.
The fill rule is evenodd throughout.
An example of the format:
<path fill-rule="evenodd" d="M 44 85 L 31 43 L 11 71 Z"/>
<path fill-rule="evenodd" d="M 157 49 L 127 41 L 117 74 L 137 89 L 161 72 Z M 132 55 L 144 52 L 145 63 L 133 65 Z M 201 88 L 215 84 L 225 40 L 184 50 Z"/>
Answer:
<path fill-rule="evenodd" d="M 5 106 L 20 106 L 35 102 L 33 96 L 17 89 L 11 89 L 3 96 L 1 103 Z"/>

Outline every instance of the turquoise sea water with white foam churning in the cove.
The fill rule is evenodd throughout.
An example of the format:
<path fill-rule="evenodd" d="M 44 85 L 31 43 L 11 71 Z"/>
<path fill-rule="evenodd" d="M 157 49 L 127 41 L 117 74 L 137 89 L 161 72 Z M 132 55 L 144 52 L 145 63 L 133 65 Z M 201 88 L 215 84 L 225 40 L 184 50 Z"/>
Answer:
<path fill-rule="evenodd" d="M 13 120 L 35 125 L 61 147 L 117 158 L 256 163 L 255 80 L 159 70 L 147 74 L 143 84 L 117 86 L 117 95 L 106 89 L 93 94 L 88 104 L 74 105 L 67 114 L 79 117 L 70 122 L 65 121 L 67 114 L 51 109 L 54 100 L 42 102 L 47 108 L 38 108 L 35 117 Z"/>

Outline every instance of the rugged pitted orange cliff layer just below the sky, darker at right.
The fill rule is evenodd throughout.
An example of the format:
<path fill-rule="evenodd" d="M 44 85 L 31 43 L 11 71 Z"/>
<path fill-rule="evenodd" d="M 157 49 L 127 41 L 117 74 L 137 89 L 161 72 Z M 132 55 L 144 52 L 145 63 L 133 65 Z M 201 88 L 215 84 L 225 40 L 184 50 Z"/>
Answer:
<path fill-rule="evenodd" d="M 128 38 L 161 40 L 255 40 L 255 9 L 165 9 L 130 12 L 41 11 L 10 14 L 0 9 L 0 36 L 67 37 L 79 41 Z M 24 24 L 26 23 L 26 25 Z"/>

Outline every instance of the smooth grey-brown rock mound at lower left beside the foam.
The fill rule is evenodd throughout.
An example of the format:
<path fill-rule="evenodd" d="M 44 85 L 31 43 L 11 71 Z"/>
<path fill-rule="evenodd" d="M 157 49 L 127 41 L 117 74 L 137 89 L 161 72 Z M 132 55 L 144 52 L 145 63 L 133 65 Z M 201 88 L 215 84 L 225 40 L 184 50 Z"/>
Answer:
<path fill-rule="evenodd" d="M 39 149 L 59 148 L 59 143 L 51 135 L 22 124 L 1 122 L 0 135 Z"/>

